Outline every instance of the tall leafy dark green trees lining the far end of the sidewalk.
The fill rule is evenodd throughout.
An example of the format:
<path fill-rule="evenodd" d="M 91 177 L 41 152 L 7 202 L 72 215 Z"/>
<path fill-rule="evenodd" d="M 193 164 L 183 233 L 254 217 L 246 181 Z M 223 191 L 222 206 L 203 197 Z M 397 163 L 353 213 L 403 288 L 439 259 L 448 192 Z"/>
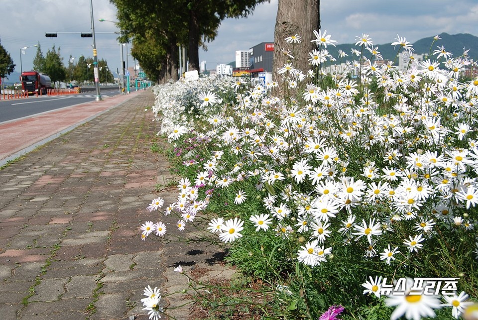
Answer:
<path fill-rule="evenodd" d="M 110 0 L 118 8 L 119 28 L 133 39 L 133 57 L 150 78 L 177 79 L 178 45 L 186 45 L 189 69 L 199 70 L 199 46 L 217 35 L 226 17 L 247 16 L 266 0 Z M 268 1 L 268 0 L 267 0 Z M 136 41 L 135 39 L 138 38 Z M 154 44 L 148 48 L 146 43 Z M 140 46 L 140 47 L 139 47 Z M 154 50 L 154 59 L 146 54 Z M 161 60 L 152 66 L 151 60 Z M 148 66 L 146 64 L 146 60 Z M 159 70 L 158 70 L 159 68 Z"/>

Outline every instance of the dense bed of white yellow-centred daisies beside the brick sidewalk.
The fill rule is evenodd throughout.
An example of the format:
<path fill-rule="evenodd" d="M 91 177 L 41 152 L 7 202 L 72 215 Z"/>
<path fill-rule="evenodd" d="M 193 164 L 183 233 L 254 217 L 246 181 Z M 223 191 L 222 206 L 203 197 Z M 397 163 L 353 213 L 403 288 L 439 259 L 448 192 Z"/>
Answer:
<path fill-rule="evenodd" d="M 399 70 L 369 35 L 335 58 L 331 35 L 314 33 L 310 70 L 294 67 L 300 36 L 289 37 L 280 81 L 249 88 L 222 79 L 217 94 L 201 87 L 187 123 L 165 93 L 175 84 L 157 89 L 154 110 L 184 178 L 177 202 L 149 209 L 177 214 L 180 230 L 207 218 L 229 260 L 270 284 L 270 304 L 286 318 L 317 319 L 339 304 L 350 319 L 473 312 L 478 78 L 461 77 L 476 62 L 443 46 L 418 62 L 397 36 L 392 45 L 410 57 Z M 144 224 L 143 238 L 167 237 L 160 224 Z M 458 277 L 461 294 L 387 298 L 383 277 Z"/>

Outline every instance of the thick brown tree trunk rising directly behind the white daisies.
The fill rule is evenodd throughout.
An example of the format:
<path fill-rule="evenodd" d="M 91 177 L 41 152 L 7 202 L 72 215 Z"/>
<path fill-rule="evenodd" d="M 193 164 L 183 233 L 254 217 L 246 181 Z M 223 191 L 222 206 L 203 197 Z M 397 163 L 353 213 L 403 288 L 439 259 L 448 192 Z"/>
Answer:
<path fill-rule="evenodd" d="M 307 73 L 309 63 L 307 57 L 309 52 L 316 47 L 310 41 L 315 39 L 312 31 L 320 29 L 320 0 L 279 0 L 277 17 L 274 29 L 274 59 L 272 70 L 275 79 L 277 68 L 283 66 L 287 61 L 280 51 L 283 48 L 293 50 L 292 65 Z M 287 44 L 285 38 L 298 34 L 302 37 L 299 44 Z"/>

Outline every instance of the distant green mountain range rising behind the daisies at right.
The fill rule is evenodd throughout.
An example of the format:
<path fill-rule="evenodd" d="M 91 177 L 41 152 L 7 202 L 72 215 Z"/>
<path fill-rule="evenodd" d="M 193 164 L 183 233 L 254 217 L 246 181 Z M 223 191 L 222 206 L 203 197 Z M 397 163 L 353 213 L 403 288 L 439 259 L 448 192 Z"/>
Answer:
<path fill-rule="evenodd" d="M 444 46 L 445 51 L 451 51 L 453 53 L 452 57 L 458 57 L 463 55 L 463 50 L 465 48 L 465 50 L 470 49 L 470 51 L 468 52 L 470 58 L 475 61 L 478 60 L 478 37 L 469 33 L 441 33 L 439 37 L 441 39 L 435 41 L 435 43 L 433 43 L 434 36 L 416 41 L 415 43 L 413 43 L 413 48 L 415 49 L 414 53 L 433 54 L 433 51 L 438 49 L 437 46 Z M 378 51 L 383 56 L 383 59 L 394 60 L 400 46 L 392 46 L 391 44 L 391 42 L 378 45 L 374 44 L 373 47 L 378 46 Z M 430 46 L 432 47 L 430 48 Z M 351 60 L 352 58 L 352 48 L 360 50 L 360 47 L 356 46 L 355 43 L 338 44 L 336 47 L 327 46 L 327 50 L 330 54 L 332 54 L 333 57 L 337 58 L 339 50 L 342 50 L 349 55 L 349 57 L 346 57 L 348 60 Z M 365 57 L 370 57 L 370 53 L 368 51 L 364 50 L 363 54 Z"/>

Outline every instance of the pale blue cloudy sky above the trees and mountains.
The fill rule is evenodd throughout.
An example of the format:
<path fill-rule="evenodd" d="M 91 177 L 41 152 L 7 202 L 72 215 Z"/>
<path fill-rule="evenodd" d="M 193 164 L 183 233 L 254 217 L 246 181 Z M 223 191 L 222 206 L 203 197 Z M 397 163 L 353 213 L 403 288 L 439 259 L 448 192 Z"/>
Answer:
<path fill-rule="evenodd" d="M 277 3 L 259 4 L 247 18 L 224 20 L 216 39 L 206 43 L 208 50 L 200 50 L 199 60 L 215 69 L 218 63 L 234 61 L 236 50 L 272 42 Z M 60 47 L 65 65 L 70 55 L 76 60 L 81 55 L 93 57 L 92 38 L 61 33 L 91 32 L 90 0 L 0 0 L 0 8 L 1 45 L 17 64 L 16 71 L 20 70 L 20 48 L 38 42 L 44 55 L 53 45 Z M 99 21 L 115 21 L 116 8 L 109 0 L 93 0 L 93 15 L 98 57 L 116 71 L 121 60 L 114 33 L 118 29 L 113 22 Z M 320 15 L 322 30 L 338 43 L 355 43 L 362 33 L 369 34 L 377 45 L 395 41 L 397 34 L 411 43 L 442 32 L 478 36 L 478 0 L 320 0 Z M 58 37 L 46 38 L 46 32 L 58 32 Z M 24 71 L 31 70 L 35 53 L 34 47 L 25 50 L 21 57 Z M 128 65 L 133 66 L 128 57 Z"/>

